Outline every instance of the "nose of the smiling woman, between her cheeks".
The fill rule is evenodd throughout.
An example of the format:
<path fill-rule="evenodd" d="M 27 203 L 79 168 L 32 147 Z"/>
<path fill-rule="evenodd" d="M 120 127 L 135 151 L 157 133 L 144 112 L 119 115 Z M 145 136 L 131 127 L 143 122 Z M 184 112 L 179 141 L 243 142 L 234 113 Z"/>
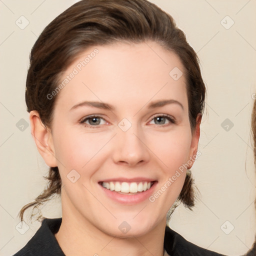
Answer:
<path fill-rule="evenodd" d="M 149 149 L 144 141 L 143 131 L 135 125 L 127 131 L 117 127 L 112 158 L 116 164 L 135 166 L 149 160 Z"/>

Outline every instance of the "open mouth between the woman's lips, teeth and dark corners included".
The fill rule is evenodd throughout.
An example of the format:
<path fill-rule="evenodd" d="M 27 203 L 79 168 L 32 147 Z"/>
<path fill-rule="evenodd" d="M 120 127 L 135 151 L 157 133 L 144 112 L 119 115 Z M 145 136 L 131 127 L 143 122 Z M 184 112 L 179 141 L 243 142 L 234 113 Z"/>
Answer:
<path fill-rule="evenodd" d="M 133 195 L 145 192 L 152 187 L 152 185 L 157 182 L 154 181 L 100 181 L 98 182 L 102 187 L 110 191 L 117 192 L 119 194 Z"/>

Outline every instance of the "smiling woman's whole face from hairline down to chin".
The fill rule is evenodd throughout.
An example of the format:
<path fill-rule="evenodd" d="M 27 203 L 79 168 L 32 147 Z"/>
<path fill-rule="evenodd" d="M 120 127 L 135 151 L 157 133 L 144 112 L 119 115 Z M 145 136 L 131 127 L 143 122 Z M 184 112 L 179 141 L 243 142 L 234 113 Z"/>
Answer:
<path fill-rule="evenodd" d="M 62 74 L 49 141 L 63 217 L 123 237 L 165 223 L 199 137 L 181 72 L 149 41 L 91 47 Z"/>

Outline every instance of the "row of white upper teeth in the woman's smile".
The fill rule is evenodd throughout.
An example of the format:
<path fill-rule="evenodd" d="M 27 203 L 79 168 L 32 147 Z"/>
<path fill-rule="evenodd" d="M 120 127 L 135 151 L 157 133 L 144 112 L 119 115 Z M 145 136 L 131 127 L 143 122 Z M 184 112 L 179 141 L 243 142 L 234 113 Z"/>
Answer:
<path fill-rule="evenodd" d="M 119 181 L 110 181 L 110 182 L 102 182 L 102 186 L 114 190 L 116 192 L 123 193 L 136 193 L 141 191 L 146 191 L 151 187 L 151 182 L 140 181 L 140 182 L 119 182 Z"/>

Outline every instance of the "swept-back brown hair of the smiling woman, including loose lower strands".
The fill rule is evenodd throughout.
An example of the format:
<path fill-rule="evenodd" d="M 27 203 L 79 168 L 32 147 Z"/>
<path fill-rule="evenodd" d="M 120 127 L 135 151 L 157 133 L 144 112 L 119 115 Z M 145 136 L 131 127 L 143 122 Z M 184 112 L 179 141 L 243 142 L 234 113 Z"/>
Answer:
<path fill-rule="evenodd" d="M 159 43 L 181 59 L 185 68 L 189 121 L 193 131 L 197 114 L 203 112 L 205 98 L 199 60 L 173 18 L 147 0 L 81 0 L 52 20 L 31 49 L 25 92 L 27 111 L 38 111 L 42 123 L 50 127 L 56 96 L 49 100 L 46 95 L 56 88 L 61 73 L 77 54 L 93 45 L 145 40 Z M 58 168 L 50 167 L 45 178 L 48 184 L 44 191 L 21 208 L 21 220 L 28 207 L 33 206 L 34 209 L 52 195 L 60 194 Z M 195 199 L 192 183 L 188 170 L 176 200 L 189 209 L 194 206 Z"/>

